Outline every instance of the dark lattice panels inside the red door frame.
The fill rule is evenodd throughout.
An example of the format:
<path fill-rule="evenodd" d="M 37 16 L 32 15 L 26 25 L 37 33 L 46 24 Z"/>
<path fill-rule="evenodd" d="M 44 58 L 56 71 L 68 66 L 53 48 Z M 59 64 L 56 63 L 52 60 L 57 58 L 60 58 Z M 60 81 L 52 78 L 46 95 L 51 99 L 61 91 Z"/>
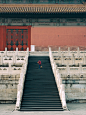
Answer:
<path fill-rule="evenodd" d="M 9 51 L 25 51 L 28 46 L 28 29 L 7 29 L 7 48 Z"/>

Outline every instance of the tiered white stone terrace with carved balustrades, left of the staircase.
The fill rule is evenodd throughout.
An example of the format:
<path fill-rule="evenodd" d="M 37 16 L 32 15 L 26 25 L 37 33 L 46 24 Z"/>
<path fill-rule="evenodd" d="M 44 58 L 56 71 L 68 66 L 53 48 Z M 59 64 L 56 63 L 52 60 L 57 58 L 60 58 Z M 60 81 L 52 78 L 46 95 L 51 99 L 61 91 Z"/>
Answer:
<path fill-rule="evenodd" d="M 18 51 L 18 48 L 0 51 L 0 103 L 16 103 L 20 73 L 27 65 L 28 54 L 28 48 L 27 51 Z"/>

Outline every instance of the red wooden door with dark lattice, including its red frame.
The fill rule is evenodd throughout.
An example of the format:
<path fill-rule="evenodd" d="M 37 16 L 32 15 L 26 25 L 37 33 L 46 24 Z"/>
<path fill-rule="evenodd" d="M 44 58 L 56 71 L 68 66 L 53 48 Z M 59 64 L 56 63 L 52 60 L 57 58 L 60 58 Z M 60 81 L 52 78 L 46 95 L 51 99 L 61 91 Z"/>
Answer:
<path fill-rule="evenodd" d="M 6 44 L 8 51 L 26 51 L 31 45 L 31 26 L 7 26 Z"/>

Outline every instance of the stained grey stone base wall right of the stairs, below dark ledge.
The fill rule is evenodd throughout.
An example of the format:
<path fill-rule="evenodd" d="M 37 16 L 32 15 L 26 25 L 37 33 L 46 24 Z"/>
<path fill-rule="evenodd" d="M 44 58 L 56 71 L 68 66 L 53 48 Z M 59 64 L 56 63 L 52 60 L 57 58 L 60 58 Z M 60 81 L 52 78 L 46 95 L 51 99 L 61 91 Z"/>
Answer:
<path fill-rule="evenodd" d="M 65 84 L 66 100 L 86 99 L 86 83 Z"/>

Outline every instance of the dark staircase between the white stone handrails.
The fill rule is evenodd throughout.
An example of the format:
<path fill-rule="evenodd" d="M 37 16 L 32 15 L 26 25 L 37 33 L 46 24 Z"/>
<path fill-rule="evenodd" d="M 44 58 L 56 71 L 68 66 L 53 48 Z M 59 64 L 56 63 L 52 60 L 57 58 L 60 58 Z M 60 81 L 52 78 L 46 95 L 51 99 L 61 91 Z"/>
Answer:
<path fill-rule="evenodd" d="M 42 62 L 39 69 L 38 60 Z M 30 56 L 21 111 L 63 111 L 48 56 Z"/>

